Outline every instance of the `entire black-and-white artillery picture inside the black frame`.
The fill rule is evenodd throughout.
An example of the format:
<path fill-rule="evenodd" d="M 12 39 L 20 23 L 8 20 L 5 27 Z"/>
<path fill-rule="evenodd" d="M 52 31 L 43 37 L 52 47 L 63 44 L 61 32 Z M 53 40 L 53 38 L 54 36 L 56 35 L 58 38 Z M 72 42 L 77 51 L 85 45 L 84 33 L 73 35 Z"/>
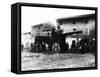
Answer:
<path fill-rule="evenodd" d="M 21 71 L 96 67 L 95 10 L 21 6 Z"/>

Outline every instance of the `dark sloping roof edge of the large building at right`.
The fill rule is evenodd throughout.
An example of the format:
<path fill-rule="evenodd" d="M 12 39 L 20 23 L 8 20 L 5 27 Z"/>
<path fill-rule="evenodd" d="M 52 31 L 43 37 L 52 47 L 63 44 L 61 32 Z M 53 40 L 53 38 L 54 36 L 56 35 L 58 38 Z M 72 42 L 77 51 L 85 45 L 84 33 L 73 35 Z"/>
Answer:
<path fill-rule="evenodd" d="M 60 18 L 57 19 L 57 22 L 59 24 L 62 24 L 64 22 L 71 22 L 71 21 L 87 21 L 89 19 L 95 19 L 95 14 L 87 14 L 87 15 L 79 15 L 79 16 L 74 16 L 74 17 L 69 17 L 69 18 Z"/>

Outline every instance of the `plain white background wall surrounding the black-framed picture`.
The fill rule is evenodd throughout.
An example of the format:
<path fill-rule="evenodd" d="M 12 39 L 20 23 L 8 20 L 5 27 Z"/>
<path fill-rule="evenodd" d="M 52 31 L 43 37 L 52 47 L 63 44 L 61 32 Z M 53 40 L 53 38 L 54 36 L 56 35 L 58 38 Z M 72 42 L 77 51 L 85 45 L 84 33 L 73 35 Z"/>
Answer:
<path fill-rule="evenodd" d="M 15 75 L 10 72 L 10 54 L 11 54 L 11 7 L 15 2 L 29 2 L 29 3 L 47 3 L 47 4 L 62 4 L 62 5 L 77 5 L 77 6 L 93 6 L 99 7 L 98 19 L 100 20 L 100 0 L 1 0 L 0 1 L 0 77 L 99 77 L 100 76 L 100 60 L 98 70 L 87 71 L 71 71 L 71 72 L 55 72 L 55 73 L 41 73 L 28 75 Z M 100 29 L 100 22 L 98 22 L 98 29 Z M 100 33 L 100 30 L 98 30 Z M 100 39 L 100 35 L 98 36 Z M 100 46 L 100 40 L 98 40 Z M 98 47 L 100 51 L 100 47 Z M 100 59 L 100 52 L 99 59 Z"/>

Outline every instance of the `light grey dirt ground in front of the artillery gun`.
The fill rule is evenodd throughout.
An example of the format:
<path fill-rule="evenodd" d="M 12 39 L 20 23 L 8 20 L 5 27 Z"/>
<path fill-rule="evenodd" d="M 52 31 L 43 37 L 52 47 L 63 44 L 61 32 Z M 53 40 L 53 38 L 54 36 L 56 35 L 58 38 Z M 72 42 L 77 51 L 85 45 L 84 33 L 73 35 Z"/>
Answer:
<path fill-rule="evenodd" d="M 41 70 L 54 68 L 77 68 L 95 66 L 95 56 L 87 54 L 42 54 L 22 52 L 22 70 Z"/>

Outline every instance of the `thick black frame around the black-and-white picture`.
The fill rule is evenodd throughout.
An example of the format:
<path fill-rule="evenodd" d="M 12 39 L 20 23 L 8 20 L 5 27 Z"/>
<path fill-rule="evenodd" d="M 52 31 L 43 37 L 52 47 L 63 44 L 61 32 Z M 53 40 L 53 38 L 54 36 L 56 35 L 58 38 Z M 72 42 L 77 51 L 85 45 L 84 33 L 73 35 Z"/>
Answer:
<path fill-rule="evenodd" d="M 95 51 L 95 67 L 79 67 L 79 68 L 61 68 L 61 69 L 46 69 L 46 70 L 28 70 L 21 71 L 21 7 L 44 7 L 44 8 L 60 8 L 60 9 L 82 9 L 95 11 L 95 38 L 96 38 L 96 51 Z M 76 71 L 76 70 L 91 70 L 98 68 L 98 9 L 97 7 L 85 6 L 69 6 L 69 5 L 56 5 L 56 4 L 38 4 L 38 3 L 15 3 L 11 5 L 11 72 L 17 74 L 27 73 L 46 73 L 46 72 L 60 72 L 60 71 Z"/>

